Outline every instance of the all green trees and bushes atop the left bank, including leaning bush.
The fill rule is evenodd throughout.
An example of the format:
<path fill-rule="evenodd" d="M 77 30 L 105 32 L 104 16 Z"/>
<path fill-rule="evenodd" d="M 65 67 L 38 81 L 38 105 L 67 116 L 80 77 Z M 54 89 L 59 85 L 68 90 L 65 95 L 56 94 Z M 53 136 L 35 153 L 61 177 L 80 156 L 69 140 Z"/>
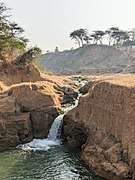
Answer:
<path fill-rule="evenodd" d="M 26 65 L 38 61 L 41 49 L 35 46 L 27 50 L 28 39 L 23 36 L 24 30 L 9 20 L 9 12 L 10 9 L 0 3 L 0 62 Z"/>

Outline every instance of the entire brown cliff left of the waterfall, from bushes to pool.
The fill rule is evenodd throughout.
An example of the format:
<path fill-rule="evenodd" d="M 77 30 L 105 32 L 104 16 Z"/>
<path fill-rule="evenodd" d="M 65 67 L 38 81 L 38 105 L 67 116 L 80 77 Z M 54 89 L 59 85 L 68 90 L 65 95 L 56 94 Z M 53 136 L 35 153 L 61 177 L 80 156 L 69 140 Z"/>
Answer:
<path fill-rule="evenodd" d="M 45 138 L 61 103 L 77 96 L 68 78 L 40 74 L 34 66 L 3 67 L 0 72 L 0 151 L 33 138 Z"/>

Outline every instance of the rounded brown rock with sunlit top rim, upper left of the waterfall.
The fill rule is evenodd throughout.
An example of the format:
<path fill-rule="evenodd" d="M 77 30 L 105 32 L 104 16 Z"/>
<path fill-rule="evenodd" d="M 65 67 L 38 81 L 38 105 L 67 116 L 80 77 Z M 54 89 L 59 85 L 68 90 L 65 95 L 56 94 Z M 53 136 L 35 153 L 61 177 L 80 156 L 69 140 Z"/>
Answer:
<path fill-rule="evenodd" d="M 55 93 L 53 85 L 48 82 L 22 83 L 12 86 L 10 91 L 21 107 L 21 111 L 60 106 L 58 95 Z"/>

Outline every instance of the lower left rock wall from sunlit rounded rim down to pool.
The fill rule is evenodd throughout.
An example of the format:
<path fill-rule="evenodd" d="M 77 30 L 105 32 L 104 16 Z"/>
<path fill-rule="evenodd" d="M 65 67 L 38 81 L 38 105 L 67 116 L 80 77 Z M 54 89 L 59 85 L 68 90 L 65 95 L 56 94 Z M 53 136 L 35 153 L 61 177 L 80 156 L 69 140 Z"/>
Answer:
<path fill-rule="evenodd" d="M 53 87 L 23 83 L 0 94 L 0 150 L 47 136 L 60 111 Z"/>

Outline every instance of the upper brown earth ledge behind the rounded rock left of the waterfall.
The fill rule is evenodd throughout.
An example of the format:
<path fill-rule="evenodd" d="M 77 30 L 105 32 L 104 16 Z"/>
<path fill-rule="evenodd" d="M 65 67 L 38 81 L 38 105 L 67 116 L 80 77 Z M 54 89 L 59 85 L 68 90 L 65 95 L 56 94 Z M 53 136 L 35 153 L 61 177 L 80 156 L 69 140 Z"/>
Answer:
<path fill-rule="evenodd" d="M 12 63 L 0 66 L 0 92 L 8 90 L 10 86 L 20 83 L 45 82 L 51 84 L 59 94 L 62 103 L 70 103 L 77 97 L 77 86 L 73 81 L 66 77 L 57 77 L 41 73 L 34 65 L 14 65 Z M 39 83 L 38 83 L 39 84 Z M 34 87 L 33 87 L 34 88 Z"/>

